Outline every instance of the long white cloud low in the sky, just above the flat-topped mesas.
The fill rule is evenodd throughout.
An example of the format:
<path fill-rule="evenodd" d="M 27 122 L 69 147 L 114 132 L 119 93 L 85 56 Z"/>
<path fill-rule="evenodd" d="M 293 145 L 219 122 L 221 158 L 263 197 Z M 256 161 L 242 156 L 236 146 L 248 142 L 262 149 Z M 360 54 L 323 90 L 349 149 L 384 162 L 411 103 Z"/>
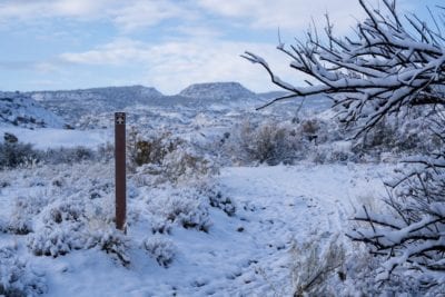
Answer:
<path fill-rule="evenodd" d="M 291 82 L 300 81 L 287 67 L 286 57 L 268 43 L 187 39 L 149 44 L 117 40 L 85 52 L 67 52 L 60 59 L 87 66 L 139 67 L 146 72 L 141 78 L 145 85 L 167 93 L 205 81 L 239 81 L 256 91 L 274 88 L 266 71 L 239 57 L 245 50 L 263 55 L 284 78 L 294 78 Z"/>

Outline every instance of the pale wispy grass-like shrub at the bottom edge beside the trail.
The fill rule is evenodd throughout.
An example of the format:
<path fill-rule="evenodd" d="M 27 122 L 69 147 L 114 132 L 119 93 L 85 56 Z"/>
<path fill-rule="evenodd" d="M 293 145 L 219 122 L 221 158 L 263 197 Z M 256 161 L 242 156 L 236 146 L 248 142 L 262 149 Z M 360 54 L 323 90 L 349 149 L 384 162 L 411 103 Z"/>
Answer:
<path fill-rule="evenodd" d="M 312 238 L 301 246 L 294 244 L 290 249 L 293 296 L 332 295 L 328 279 L 333 275 L 344 278 L 346 251 L 337 242 L 338 235 L 328 238 L 326 245 L 323 245 L 323 237 Z"/>

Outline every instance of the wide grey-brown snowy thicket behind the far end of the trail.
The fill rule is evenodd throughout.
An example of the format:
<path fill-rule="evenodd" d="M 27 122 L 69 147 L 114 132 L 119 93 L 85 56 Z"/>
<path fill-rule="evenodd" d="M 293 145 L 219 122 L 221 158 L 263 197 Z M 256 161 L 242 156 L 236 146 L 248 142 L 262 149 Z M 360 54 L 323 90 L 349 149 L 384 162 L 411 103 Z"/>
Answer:
<path fill-rule="evenodd" d="M 217 146 L 222 157 L 233 164 L 277 165 L 309 160 L 319 164 L 346 161 L 350 151 L 336 148 L 346 133 L 337 121 L 309 117 L 284 121 L 277 119 L 246 119 L 233 127 L 233 132 L 222 136 Z M 229 155 L 226 157 L 225 155 Z"/>

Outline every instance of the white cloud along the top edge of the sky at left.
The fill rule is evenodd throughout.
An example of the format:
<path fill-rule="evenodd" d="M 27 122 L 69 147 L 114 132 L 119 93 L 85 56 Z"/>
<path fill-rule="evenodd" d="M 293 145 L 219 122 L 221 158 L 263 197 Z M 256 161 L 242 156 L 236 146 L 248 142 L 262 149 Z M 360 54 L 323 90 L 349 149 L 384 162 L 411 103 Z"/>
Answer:
<path fill-rule="evenodd" d="M 156 26 L 167 19 L 195 18 L 195 12 L 186 4 L 167 0 L 7 0 L 0 3 L 0 19 L 3 22 L 58 17 L 77 20 L 107 19 L 128 32 Z"/>

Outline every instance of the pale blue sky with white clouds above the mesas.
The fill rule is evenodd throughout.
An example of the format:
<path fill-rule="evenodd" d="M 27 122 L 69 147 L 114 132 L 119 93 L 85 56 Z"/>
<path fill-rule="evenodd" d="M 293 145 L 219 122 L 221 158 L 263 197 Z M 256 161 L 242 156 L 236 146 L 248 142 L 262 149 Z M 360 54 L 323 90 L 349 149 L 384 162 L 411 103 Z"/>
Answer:
<path fill-rule="evenodd" d="M 442 0 L 398 0 L 427 20 Z M 367 0 L 378 7 L 377 0 Z M 0 0 L 0 90 L 61 90 L 144 85 L 166 95 L 191 83 L 238 81 L 276 89 L 255 52 L 293 83 L 303 77 L 276 50 L 301 39 L 328 12 L 348 34 L 357 0 Z"/>

